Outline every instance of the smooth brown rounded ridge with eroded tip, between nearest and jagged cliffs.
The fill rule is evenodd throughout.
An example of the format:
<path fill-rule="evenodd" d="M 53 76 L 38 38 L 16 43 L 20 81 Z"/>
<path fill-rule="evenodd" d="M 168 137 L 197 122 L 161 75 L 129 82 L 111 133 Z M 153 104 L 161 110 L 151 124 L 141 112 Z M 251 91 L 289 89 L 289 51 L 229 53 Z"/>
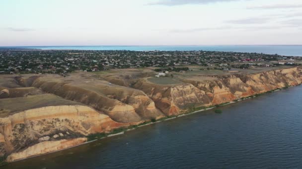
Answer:
<path fill-rule="evenodd" d="M 86 104 L 107 114 L 116 122 L 141 122 L 163 116 L 144 92 L 105 81 L 67 83 L 41 77 L 32 86 Z"/>

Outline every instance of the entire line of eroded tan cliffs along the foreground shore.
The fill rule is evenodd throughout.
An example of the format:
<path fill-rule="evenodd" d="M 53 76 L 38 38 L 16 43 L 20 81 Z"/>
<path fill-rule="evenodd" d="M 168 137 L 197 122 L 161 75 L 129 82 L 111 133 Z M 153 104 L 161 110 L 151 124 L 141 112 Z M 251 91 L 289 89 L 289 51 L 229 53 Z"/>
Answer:
<path fill-rule="evenodd" d="M 171 85 L 153 84 L 139 75 L 125 77 L 106 77 L 111 84 L 43 75 L 16 77 L 21 88 L 0 86 L 0 156 L 8 155 L 12 162 L 81 144 L 91 133 L 298 85 L 302 68 L 182 79 Z M 31 104 L 4 106 L 24 99 Z"/>

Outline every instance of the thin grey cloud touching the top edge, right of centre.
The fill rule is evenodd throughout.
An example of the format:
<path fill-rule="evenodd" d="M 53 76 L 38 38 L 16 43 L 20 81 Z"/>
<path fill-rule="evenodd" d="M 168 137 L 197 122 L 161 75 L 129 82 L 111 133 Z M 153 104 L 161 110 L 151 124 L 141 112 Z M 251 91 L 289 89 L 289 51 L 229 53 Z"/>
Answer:
<path fill-rule="evenodd" d="M 206 3 L 230 2 L 230 1 L 239 1 L 239 0 L 158 0 L 157 2 L 153 2 L 149 4 L 175 6 L 175 5 L 184 5 L 184 4 L 206 4 Z"/>

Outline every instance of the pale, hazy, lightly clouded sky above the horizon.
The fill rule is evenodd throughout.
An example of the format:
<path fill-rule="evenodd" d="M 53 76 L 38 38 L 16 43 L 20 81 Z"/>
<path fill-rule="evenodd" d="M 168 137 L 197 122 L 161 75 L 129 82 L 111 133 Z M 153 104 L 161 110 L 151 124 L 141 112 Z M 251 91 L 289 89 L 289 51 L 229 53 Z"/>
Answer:
<path fill-rule="evenodd" d="M 0 0 L 0 46 L 302 44 L 302 0 Z"/>

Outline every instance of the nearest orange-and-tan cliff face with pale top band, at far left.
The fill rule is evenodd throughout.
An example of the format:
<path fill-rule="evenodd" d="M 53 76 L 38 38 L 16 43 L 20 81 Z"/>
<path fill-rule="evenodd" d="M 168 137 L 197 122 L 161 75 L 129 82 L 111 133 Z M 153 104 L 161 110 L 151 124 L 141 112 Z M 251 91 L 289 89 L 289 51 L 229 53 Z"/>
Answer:
<path fill-rule="evenodd" d="M 43 149 L 36 145 L 44 141 L 70 140 L 91 133 L 108 132 L 113 128 L 127 126 L 127 124 L 114 122 L 107 115 L 82 105 L 29 109 L 0 118 L 0 124 L 0 143 L 2 143 L 0 154 L 18 154 L 18 158 L 13 157 L 10 161 L 48 153 L 52 149 L 59 150 L 60 146 L 66 147 L 61 143 L 57 148 L 52 146 L 52 149 L 48 147 Z M 59 142 L 55 145 L 57 144 Z M 48 145 L 48 143 L 42 145 Z M 27 152 L 26 149 L 30 146 L 40 148 L 32 148 L 29 154 L 24 153 L 23 151 Z"/>

